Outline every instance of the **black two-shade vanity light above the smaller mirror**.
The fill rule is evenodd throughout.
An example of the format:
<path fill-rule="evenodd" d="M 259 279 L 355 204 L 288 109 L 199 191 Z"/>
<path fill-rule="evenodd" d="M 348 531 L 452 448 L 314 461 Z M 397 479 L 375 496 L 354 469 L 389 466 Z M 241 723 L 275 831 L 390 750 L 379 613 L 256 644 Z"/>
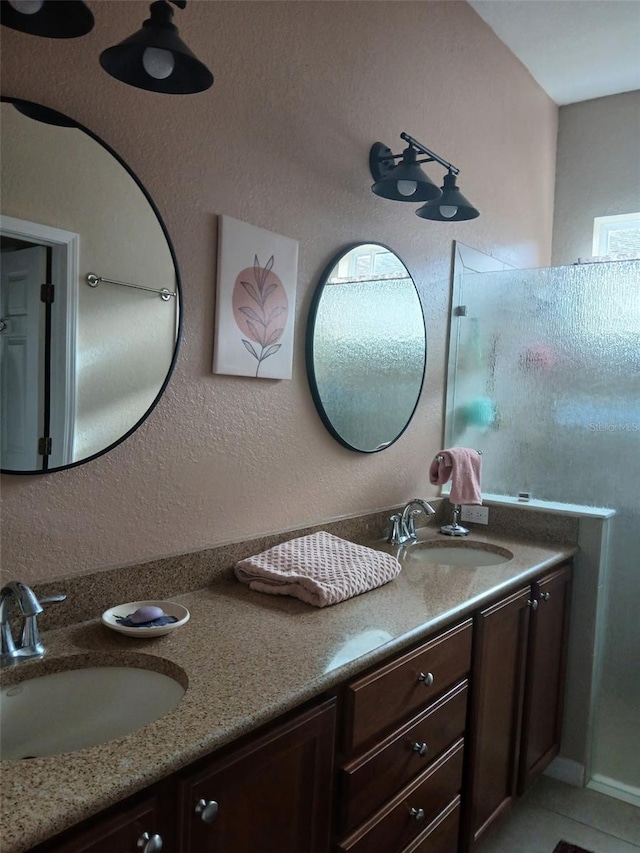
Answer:
<path fill-rule="evenodd" d="M 375 142 L 369 152 L 369 169 L 374 184 L 371 190 L 382 198 L 392 201 L 425 201 L 416 211 L 422 219 L 438 222 L 460 222 L 475 219 L 480 212 L 467 201 L 456 186 L 460 169 L 435 154 L 408 133 L 400 138 L 409 145 L 402 154 L 393 154 L 382 142 Z M 418 160 L 418 154 L 426 159 Z M 401 162 L 396 165 L 395 160 Z M 421 163 L 439 163 L 448 170 L 441 189 L 422 170 Z"/>

